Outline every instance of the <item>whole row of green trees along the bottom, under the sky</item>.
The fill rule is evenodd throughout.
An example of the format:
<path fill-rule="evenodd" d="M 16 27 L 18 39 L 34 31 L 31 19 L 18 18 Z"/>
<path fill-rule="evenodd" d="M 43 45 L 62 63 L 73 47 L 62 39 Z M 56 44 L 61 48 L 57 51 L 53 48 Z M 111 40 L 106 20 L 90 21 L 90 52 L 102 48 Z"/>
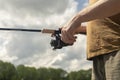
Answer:
<path fill-rule="evenodd" d="M 91 69 L 67 72 L 60 68 L 14 66 L 0 61 L 0 80 L 91 80 Z"/>

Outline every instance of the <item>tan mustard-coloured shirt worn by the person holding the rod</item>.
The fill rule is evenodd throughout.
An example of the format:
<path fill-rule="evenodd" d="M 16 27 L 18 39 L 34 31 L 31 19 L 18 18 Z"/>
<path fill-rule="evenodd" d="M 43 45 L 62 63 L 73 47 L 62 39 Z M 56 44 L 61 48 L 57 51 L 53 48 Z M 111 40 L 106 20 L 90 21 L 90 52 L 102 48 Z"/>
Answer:
<path fill-rule="evenodd" d="M 98 0 L 90 0 L 90 5 Z M 120 50 L 120 13 L 88 22 L 87 59 Z"/>

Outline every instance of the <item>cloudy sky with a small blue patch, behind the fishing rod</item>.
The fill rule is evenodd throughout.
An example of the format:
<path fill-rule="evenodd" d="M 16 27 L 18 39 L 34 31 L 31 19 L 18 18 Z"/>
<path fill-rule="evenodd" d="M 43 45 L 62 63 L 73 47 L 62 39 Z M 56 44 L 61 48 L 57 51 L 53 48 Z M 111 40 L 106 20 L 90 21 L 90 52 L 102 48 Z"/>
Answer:
<path fill-rule="evenodd" d="M 58 29 L 88 0 L 0 0 L 0 28 Z M 51 35 L 0 31 L 0 60 L 14 65 L 62 68 L 67 71 L 89 69 L 86 36 L 77 35 L 73 46 L 53 51 Z"/>

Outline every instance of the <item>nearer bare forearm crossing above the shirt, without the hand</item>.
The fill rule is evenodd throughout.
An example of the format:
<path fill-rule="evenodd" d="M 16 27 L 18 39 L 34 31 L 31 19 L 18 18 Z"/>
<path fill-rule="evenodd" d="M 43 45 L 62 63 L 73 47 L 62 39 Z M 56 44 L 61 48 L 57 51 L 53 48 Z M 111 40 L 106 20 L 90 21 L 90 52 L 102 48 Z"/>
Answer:
<path fill-rule="evenodd" d="M 82 22 L 102 19 L 120 12 L 120 0 L 99 0 L 80 11 L 70 22 L 71 29 L 79 27 Z"/>

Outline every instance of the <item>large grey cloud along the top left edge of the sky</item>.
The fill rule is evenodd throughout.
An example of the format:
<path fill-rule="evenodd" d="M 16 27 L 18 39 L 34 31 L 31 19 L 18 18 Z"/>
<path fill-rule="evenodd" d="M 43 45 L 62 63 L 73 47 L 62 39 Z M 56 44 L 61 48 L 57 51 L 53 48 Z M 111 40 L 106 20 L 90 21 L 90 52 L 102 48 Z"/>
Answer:
<path fill-rule="evenodd" d="M 0 0 L 3 10 L 30 15 L 61 14 L 70 7 L 73 0 Z"/>

